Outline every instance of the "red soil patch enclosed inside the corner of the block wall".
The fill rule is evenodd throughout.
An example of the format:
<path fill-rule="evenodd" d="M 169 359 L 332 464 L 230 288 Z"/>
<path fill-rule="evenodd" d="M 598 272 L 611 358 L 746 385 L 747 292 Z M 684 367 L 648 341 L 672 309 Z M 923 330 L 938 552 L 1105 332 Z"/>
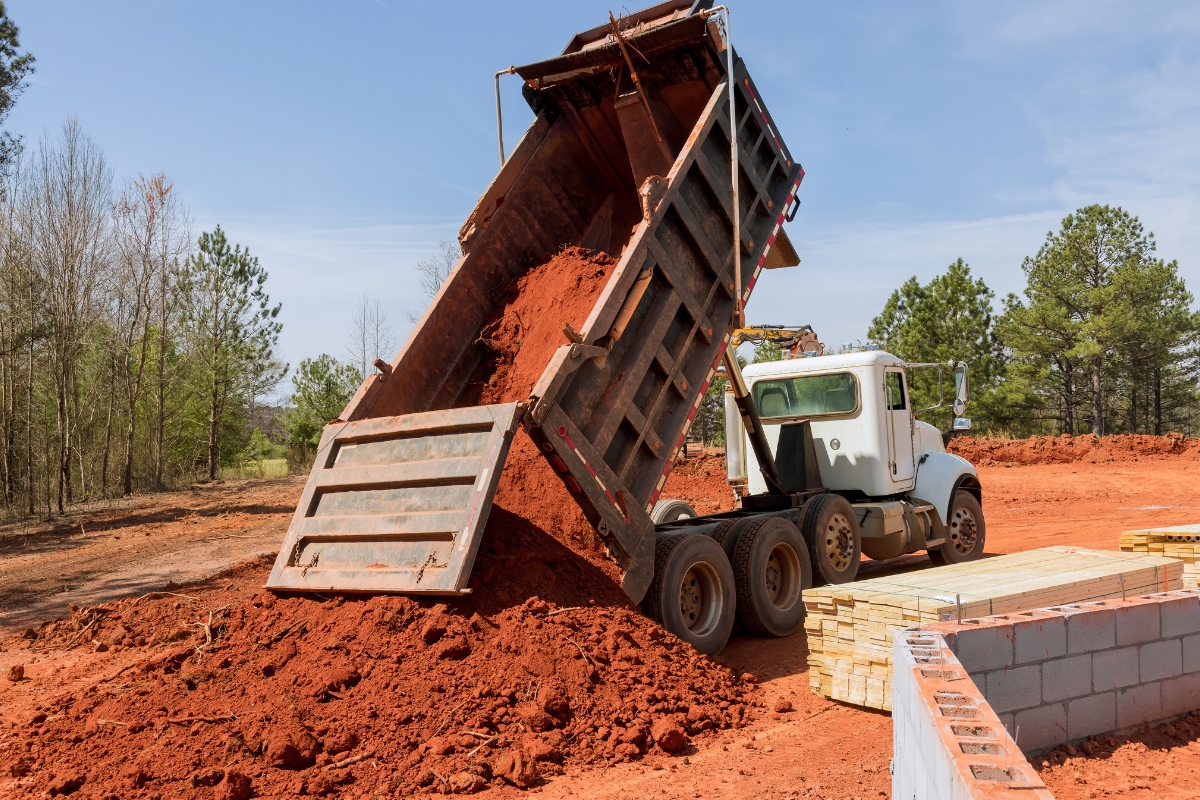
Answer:
<path fill-rule="evenodd" d="M 1092 736 L 1032 760 L 1057 800 L 1198 798 L 1200 714 L 1123 736 Z"/>

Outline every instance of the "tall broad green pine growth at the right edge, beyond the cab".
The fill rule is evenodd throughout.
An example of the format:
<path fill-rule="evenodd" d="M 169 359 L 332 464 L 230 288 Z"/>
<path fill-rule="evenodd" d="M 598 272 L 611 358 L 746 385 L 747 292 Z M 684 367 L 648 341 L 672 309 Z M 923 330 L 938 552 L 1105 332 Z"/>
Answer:
<path fill-rule="evenodd" d="M 1014 375 L 1066 433 L 1158 432 L 1194 403 L 1187 354 L 1200 318 L 1176 263 L 1154 251 L 1136 217 L 1090 205 L 1021 266 L 1025 297 L 1006 300 L 997 330 Z"/>

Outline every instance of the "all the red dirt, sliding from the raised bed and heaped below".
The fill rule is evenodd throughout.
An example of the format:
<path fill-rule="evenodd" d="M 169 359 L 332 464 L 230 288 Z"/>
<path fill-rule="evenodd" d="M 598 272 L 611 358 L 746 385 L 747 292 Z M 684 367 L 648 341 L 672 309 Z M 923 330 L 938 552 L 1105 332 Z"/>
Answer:
<path fill-rule="evenodd" d="M 480 333 L 493 355 L 478 402 L 528 397 L 613 265 L 569 248 L 503 289 Z M 395 796 L 524 788 L 564 764 L 678 753 L 743 724 L 755 702 L 752 680 L 629 607 L 600 537 L 523 433 L 472 595 L 274 595 L 254 588 L 265 566 L 232 573 L 233 590 L 106 603 L 6 643 L 61 654 L 83 642 L 112 652 L 114 670 L 126 663 L 86 688 L 46 687 L 36 712 L 10 720 L 26 750 L 6 766 L 16 788 L 216 787 L 227 800 L 350 783 Z"/>

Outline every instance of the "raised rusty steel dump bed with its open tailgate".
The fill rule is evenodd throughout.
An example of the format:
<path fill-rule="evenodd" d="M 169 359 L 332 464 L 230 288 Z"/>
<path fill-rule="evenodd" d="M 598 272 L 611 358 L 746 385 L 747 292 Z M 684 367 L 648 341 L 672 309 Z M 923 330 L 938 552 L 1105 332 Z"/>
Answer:
<path fill-rule="evenodd" d="M 702 7 L 622 22 L 641 91 L 611 26 L 517 68 L 536 119 L 390 369 L 325 428 L 269 587 L 462 591 L 521 425 L 641 600 L 648 511 L 732 332 L 730 49 Z M 760 270 L 797 261 L 780 225 L 804 172 L 737 58 L 734 78 L 748 297 Z M 564 245 L 619 258 L 578 341 L 564 336 L 527 402 L 467 405 L 492 290 Z"/>

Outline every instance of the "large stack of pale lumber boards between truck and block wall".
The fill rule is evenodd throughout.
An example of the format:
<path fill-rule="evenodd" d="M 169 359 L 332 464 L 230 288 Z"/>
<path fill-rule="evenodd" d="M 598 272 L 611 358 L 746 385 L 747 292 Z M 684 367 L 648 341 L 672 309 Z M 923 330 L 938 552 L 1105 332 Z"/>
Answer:
<path fill-rule="evenodd" d="M 1085 600 L 1182 589 L 1183 565 L 1148 553 L 1044 547 L 804 591 L 809 685 L 892 709 L 892 632 Z"/>

